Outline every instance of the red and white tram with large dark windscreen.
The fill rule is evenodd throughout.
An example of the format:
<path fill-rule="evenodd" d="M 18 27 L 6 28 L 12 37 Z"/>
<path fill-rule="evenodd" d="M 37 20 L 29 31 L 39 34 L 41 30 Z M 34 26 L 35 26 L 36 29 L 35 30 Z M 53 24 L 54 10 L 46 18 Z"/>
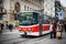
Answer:
<path fill-rule="evenodd" d="M 40 36 L 51 32 L 51 24 L 44 22 L 44 15 L 40 12 L 23 11 L 18 16 L 18 30 L 21 35 Z"/>

